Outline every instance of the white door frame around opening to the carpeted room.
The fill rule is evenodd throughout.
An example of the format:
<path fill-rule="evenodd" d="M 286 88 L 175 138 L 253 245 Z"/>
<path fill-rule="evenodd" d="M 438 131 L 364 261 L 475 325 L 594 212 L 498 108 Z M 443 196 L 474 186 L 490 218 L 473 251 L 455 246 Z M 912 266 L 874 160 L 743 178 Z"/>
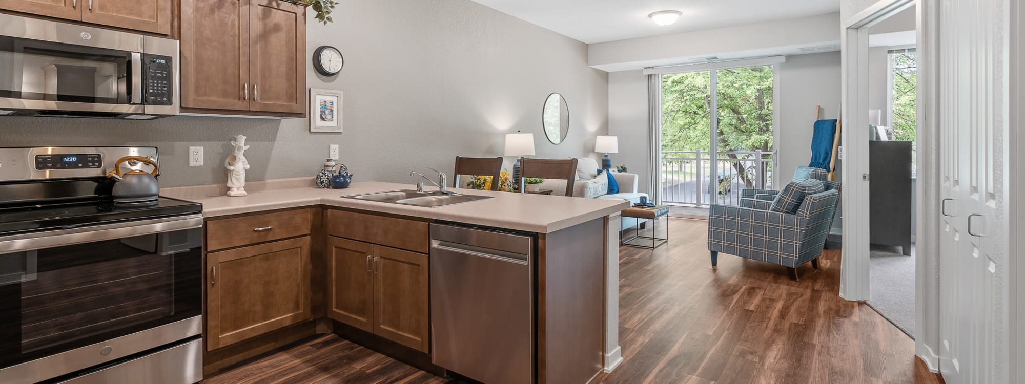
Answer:
<path fill-rule="evenodd" d="M 840 138 L 846 159 L 844 212 L 868 212 L 868 29 L 917 3 L 918 110 L 915 220 L 915 354 L 933 372 L 939 370 L 939 134 L 936 125 L 936 0 L 880 0 L 844 22 L 842 36 Z M 839 295 L 847 300 L 869 298 L 869 217 L 843 218 L 844 247 Z"/>

